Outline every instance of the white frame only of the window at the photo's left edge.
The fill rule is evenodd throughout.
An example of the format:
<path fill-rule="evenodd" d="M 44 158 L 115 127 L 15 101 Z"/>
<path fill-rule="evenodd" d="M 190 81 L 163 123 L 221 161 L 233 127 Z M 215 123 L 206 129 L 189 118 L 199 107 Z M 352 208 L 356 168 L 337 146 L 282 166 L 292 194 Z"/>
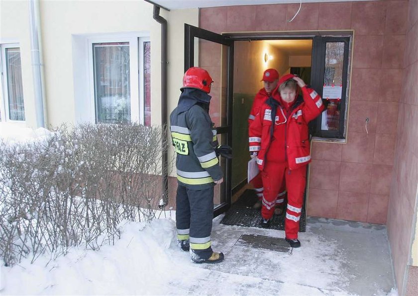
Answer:
<path fill-rule="evenodd" d="M 10 110 L 9 110 L 9 103 L 8 103 L 8 87 L 7 87 L 7 66 L 6 66 L 6 49 L 7 48 L 19 48 L 20 59 L 21 59 L 20 43 L 10 42 L 10 43 L 1 43 L 0 44 L 0 51 L 1 51 L 1 53 L 0 53 L 0 71 L 1 71 L 1 81 L 0 81 L 0 88 L 1 88 L 1 97 L 0 97 L 1 120 L 0 120 L 0 122 L 25 124 L 26 123 L 26 109 L 25 109 L 25 120 L 11 120 L 10 119 L 10 114 L 9 114 Z M 23 80 L 23 74 L 22 74 L 21 79 Z M 24 89 L 23 89 L 23 91 L 24 91 Z M 23 95 L 23 104 L 24 104 L 24 95 Z"/>

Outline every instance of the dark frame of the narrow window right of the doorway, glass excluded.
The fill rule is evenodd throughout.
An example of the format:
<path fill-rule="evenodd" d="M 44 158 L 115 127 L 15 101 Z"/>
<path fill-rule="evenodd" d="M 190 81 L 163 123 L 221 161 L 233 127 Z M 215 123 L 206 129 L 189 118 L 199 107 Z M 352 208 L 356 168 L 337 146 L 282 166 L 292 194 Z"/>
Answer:
<path fill-rule="evenodd" d="M 325 54 L 326 44 L 329 42 L 343 42 L 344 43 L 344 61 L 342 72 L 342 91 L 341 91 L 341 109 L 338 131 L 321 130 L 322 113 L 310 123 L 311 134 L 317 140 L 346 140 L 347 139 L 347 117 L 348 117 L 348 103 L 349 103 L 349 73 L 350 73 L 350 54 L 352 52 L 352 36 L 315 36 L 313 39 L 312 49 L 312 67 L 318 69 L 316 75 L 311 77 L 311 85 L 316 92 L 322 97 L 323 78 L 325 72 Z M 326 108 L 327 101 L 322 97 L 322 102 Z"/>

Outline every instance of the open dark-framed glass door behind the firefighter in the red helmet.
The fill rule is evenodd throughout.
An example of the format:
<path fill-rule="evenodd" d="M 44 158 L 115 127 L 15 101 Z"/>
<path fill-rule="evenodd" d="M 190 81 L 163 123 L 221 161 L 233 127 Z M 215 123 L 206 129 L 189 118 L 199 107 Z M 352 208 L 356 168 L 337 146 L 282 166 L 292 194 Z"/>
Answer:
<path fill-rule="evenodd" d="M 202 67 L 213 78 L 210 118 L 217 127 L 219 144 L 232 147 L 232 85 L 234 42 L 225 36 L 185 24 L 184 71 Z M 231 205 L 231 159 L 219 157 L 224 182 L 214 187 L 214 217 Z"/>

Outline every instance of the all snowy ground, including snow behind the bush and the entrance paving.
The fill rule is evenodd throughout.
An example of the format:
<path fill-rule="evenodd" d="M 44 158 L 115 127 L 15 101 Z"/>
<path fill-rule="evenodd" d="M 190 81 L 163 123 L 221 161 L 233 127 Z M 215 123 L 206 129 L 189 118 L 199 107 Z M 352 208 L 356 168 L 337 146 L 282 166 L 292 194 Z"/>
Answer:
<path fill-rule="evenodd" d="M 0 124 L 10 144 L 48 135 Z M 225 260 L 209 265 L 180 250 L 170 215 L 121 223 L 121 239 L 99 251 L 72 247 L 57 260 L 45 254 L 33 264 L 0 265 L 0 295 L 397 295 L 384 226 L 360 231 L 346 224 L 341 232 L 312 224 L 288 255 L 234 245 L 241 233 L 284 231 L 223 225 L 217 217 L 212 247 Z"/>

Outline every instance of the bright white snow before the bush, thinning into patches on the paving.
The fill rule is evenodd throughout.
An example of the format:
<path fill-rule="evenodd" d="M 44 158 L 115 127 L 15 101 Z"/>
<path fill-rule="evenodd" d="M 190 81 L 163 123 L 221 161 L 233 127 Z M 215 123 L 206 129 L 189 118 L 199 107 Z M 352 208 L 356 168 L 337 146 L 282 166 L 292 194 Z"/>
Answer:
<path fill-rule="evenodd" d="M 252 270 L 252 266 L 241 265 L 237 260 L 239 256 L 248 253 L 245 248 L 240 248 L 238 256 L 234 254 L 229 258 L 226 252 L 225 261 L 217 266 L 192 263 L 189 254 L 177 247 L 175 223 L 171 219 L 155 220 L 150 225 L 126 222 L 122 228 L 121 239 L 114 246 L 104 246 L 100 251 L 72 248 L 68 255 L 56 261 L 43 256 L 34 264 L 23 260 L 12 268 L 2 266 L 1 294 L 346 295 L 344 291 L 326 291 L 323 288 L 321 291 L 309 285 L 316 283 L 320 287 L 332 288 L 336 278 L 324 278 L 322 273 L 305 272 L 308 268 L 328 268 L 338 277 L 337 260 L 313 256 L 309 262 L 306 261 L 309 255 L 301 258 L 259 251 L 259 258 L 255 257 L 254 260 L 265 260 L 268 258 L 264 256 L 274 255 L 274 261 L 278 263 L 271 271 L 275 274 L 272 279 L 265 280 L 255 275 L 257 272 Z M 305 248 L 303 251 L 308 250 Z M 320 262 L 315 260 L 328 262 L 325 265 L 319 264 L 319 267 Z M 293 264 L 297 264 L 297 267 L 292 268 Z M 247 275 L 222 271 L 228 270 L 230 265 L 245 270 Z M 290 273 L 290 270 L 297 271 L 297 274 Z M 281 281 L 277 281 L 277 278 L 281 278 Z"/>

